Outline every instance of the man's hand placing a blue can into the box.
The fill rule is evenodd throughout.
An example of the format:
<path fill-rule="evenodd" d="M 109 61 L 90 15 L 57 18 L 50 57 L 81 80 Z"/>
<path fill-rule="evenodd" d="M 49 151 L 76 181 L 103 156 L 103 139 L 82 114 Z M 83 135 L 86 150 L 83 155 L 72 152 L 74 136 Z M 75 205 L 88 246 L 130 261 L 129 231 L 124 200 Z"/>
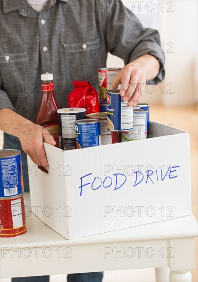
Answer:
<path fill-rule="evenodd" d="M 143 95 L 147 80 L 154 78 L 159 72 L 160 64 L 152 55 L 143 55 L 124 66 L 115 76 L 110 90 L 121 85 L 120 95 L 129 106 L 136 106 Z"/>

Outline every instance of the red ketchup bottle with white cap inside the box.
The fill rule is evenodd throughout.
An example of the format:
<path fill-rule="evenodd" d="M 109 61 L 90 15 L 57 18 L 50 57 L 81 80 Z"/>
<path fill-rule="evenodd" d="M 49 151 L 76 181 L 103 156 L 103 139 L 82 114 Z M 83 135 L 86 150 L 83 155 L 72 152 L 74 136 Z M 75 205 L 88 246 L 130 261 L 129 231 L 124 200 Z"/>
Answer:
<path fill-rule="evenodd" d="M 43 126 L 56 141 L 59 147 L 59 126 L 57 110 L 60 108 L 53 92 L 53 74 L 44 73 L 41 75 L 42 97 L 34 123 Z"/>

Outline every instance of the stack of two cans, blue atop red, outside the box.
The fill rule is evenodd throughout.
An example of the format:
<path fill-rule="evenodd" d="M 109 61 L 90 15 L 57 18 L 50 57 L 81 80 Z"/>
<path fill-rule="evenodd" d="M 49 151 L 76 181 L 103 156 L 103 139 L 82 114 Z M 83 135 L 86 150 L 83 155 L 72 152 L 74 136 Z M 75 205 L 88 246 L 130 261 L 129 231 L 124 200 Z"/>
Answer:
<path fill-rule="evenodd" d="M 27 232 L 21 152 L 0 150 L 0 238 Z"/>

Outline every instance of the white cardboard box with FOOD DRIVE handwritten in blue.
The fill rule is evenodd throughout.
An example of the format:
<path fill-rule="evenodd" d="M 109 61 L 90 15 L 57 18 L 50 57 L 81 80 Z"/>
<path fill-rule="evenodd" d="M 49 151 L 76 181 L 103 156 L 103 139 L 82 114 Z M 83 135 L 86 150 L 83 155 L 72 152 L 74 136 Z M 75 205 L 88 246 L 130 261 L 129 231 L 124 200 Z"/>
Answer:
<path fill-rule="evenodd" d="M 32 212 L 67 239 L 191 214 L 189 133 L 150 126 L 152 138 L 133 142 L 44 143 L 49 174 L 28 157 Z"/>

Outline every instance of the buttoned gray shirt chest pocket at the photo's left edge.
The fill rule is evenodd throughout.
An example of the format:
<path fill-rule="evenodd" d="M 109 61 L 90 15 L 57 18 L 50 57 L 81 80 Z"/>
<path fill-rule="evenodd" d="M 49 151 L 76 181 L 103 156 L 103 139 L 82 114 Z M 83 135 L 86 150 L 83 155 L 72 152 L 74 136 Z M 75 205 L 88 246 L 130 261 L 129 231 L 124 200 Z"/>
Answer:
<path fill-rule="evenodd" d="M 31 91 L 26 52 L 0 55 L 2 88 L 9 95 L 27 96 Z"/>

